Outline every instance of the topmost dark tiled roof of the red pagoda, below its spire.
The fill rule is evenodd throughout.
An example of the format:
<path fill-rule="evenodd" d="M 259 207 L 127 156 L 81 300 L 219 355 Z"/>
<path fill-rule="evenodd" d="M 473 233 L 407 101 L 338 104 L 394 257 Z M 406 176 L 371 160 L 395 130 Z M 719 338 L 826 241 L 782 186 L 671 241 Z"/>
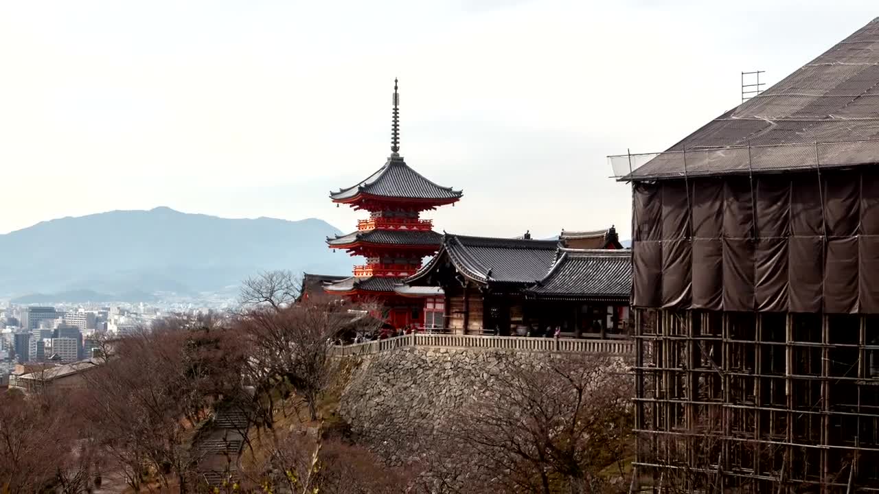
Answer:
<path fill-rule="evenodd" d="M 393 199 L 439 200 L 454 202 L 461 199 L 461 191 L 451 187 L 436 185 L 422 177 L 403 162 L 401 156 L 391 156 L 388 162 L 360 184 L 352 185 L 336 193 L 330 193 L 332 200 L 350 200 L 359 193 L 367 193 Z"/>

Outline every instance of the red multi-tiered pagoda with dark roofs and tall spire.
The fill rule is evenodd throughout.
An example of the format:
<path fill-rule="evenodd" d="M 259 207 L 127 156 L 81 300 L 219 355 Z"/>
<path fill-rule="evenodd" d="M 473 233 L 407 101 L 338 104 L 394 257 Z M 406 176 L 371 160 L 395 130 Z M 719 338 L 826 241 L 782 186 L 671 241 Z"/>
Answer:
<path fill-rule="evenodd" d="M 433 222 L 420 215 L 457 202 L 461 191 L 434 184 L 403 161 L 399 155 L 399 103 L 395 79 L 388 161 L 359 184 L 330 193 L 333 202 L 366 210 L 369 218 L 357 222 L 357 231 L 327 238 L 327 243 L 367 261 L 354 266 L 354 276 L 324 285 L 324 290 L 381 301 L 388 309 L 388 322 L 396 328 L 424 327 L 432 325 L 432 316 L 441 315 L 444 308 L 441 293 L 403 285 L 403 279 L 418 271 L 425 256 L 436 253 L 441 241 L 433 231 Z"/>

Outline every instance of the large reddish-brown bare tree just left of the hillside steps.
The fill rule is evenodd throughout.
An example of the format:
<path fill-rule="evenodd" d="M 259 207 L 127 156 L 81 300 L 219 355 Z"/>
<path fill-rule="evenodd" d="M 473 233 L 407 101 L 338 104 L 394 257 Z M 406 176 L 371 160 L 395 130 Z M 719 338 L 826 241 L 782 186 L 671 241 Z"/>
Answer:
<path fill-rule="evenodd" d="M 188 489 L 199 461 L 193 429 L 241 385 L 235 336 L 210 318 L 171 318 L 119 338 L 113 358 L 87 374 L 83 414 L 136 490 L 151 473 Z"/>

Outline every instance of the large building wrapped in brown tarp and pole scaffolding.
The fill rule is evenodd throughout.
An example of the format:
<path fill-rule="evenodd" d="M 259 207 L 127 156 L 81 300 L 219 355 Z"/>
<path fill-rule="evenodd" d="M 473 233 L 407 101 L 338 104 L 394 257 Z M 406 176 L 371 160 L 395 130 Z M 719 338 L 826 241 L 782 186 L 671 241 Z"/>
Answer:
<path fill-rule="evenodd" d="M 640 482 L 879 491 L 879 19 L 633 185 Z"/>

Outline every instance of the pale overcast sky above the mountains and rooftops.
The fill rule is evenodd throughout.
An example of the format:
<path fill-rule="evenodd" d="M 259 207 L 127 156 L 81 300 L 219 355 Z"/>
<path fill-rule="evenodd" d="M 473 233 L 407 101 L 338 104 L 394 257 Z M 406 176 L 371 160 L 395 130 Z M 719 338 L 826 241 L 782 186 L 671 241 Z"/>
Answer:
<path fill-rule="evenodd" d="M 401 154 L 464 190 L 437 229 L 628 237 L 607 155 L 665 149 L 737 105 L 742 70 L 774 83 L 875 5 L 5 1 L 0 233 L 157 206 L 353 229 L 327 194 L 389 155 L 398 76 Z"/>

